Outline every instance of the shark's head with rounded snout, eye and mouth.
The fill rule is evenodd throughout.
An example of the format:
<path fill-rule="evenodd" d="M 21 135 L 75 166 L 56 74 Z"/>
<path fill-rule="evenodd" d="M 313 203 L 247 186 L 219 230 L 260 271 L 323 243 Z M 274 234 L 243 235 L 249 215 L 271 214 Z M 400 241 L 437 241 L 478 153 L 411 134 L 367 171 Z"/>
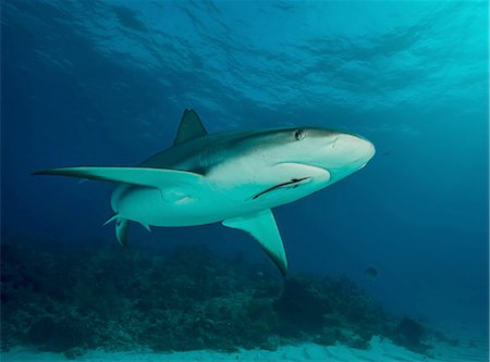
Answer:
<path fill-rule="evenodd" d="M 245 197 L 257 202 L 295 201 L 363 168 L 375 147 L 357 135 L 317 127 L 267 129 L 232 140 L 233 162 L 213 170 L 226 187 L 245 185 Z M 219 177 L 218 177 L 219 178 Z"/>

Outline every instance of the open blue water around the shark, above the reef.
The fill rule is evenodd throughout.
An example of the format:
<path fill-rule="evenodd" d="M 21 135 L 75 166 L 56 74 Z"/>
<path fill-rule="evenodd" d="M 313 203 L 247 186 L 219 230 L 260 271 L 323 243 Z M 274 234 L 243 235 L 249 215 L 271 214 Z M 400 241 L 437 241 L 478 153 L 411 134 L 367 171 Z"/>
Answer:
<path fill-rule="evenodd" d="M 274 210 L 290 270 L 346 275 L 396 314 L 488 334 L 488 3 L 2 1 L 1 233 L 115 242 L 112 185 L 185 108 L 208 132 L 313 125 L 370 139 L 360 172 Z M 265 258 L 220 225 L 134 227 Z M 376 267 L 376 283 L 364 275 Z"/>

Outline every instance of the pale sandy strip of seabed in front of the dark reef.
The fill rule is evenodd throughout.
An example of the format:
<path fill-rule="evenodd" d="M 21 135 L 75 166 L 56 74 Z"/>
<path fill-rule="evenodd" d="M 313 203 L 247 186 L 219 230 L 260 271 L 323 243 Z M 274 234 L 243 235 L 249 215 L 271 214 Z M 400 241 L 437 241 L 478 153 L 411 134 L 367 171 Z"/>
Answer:
<path fill-rule="evenodd" d="M 320 346 L 316 344 L 302 344 L 283 346 L 275 351 L 240 350 L 234 353 L 210 350 L 196 350 L 187 352 L 155 353 L 150 351 L 138 352 L 106 352 L 89 350 L 76 359 L 82 362 L 160 362 L 160 361 L 329 361 L 329 362 L 487 362 L 489 352 L 486 347 L 454 347 L 448 344 L 436 345 L 429 355 L 412 352 L 396 346 L 389 339 L 372 337 L 368 349 L 355 349 L 343 345 Z M 44 362 L 68 361 L 62 353 L 39 352 L 35 349 L 13 348 L 1 354 L 3 362 Z"/>

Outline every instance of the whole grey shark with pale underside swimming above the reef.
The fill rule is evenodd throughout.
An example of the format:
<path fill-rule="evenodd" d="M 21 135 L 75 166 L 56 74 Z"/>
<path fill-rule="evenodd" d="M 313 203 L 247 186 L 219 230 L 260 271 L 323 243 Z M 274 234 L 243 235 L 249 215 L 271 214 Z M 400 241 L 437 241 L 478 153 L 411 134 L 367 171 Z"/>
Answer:
<path fill-rule="evenodd" d="M 115 223 L 123 246 L 130 222 L 148 230 L 220 222 L 252 235 L 286 275 L 286 253 L 271 209 L 357 172 L 375 152 L 359 135 L 321 127 L 208 134 L 197 113 L 186 109 L 173 145 L 137 166 L 76 166 L 34 174 L 119 184 L 110 200 L 114 214 L 106 224 Z"/>

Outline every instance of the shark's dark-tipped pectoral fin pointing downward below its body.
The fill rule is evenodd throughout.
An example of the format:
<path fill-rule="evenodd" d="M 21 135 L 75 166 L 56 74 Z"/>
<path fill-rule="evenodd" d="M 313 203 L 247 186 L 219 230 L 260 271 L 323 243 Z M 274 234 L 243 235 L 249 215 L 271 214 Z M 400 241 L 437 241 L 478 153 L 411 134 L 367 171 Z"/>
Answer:
<path fill-rule="evenodd" d="M 259 211 L 243 217 L 229 219 L 222 222 L 224 226 L 240 228 L 250 234 L 279 267 L 282 275 L 287 272 L 287 260 L 282 244 L 281 234 L 279 234 L 274 215 L 270 209 Z"/>

